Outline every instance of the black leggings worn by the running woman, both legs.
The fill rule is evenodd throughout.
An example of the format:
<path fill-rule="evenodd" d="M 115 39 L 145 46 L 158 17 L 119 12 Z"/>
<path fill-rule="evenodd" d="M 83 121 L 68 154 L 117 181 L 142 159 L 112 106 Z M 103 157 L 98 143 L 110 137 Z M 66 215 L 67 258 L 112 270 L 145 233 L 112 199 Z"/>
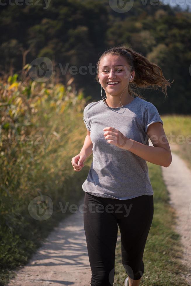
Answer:
<path fill-rule="evenodd" d="M 144 273 L 143 252 L 154 214 L 153 195 L 119 200 L 85 192 L 84 205 L 91 286 L 113 285 L 117 225 L 121 233 L 122 264 L 130 278 L 140 279 Z"/>

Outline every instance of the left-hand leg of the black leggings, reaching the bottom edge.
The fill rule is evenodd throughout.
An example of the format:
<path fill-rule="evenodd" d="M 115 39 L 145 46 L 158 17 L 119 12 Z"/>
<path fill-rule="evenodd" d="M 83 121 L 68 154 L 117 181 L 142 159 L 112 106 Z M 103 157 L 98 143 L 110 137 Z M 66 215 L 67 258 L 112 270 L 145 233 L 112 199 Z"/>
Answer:
<path fill-rule="evenodd" d="M 110 286 L 114 281 L 117 218 L 109 211 L 107 198 L 86 193 L 84 231 L 92 271 L 92 286 Z"/>

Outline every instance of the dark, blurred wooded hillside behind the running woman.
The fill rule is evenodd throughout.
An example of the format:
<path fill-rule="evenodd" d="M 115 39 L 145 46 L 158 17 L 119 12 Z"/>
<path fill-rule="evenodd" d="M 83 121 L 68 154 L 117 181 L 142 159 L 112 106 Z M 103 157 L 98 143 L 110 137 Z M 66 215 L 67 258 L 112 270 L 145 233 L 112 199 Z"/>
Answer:
<path fill-rule="evenodd" d="M 99 56 L 107 48 L 126 44 L 158 64 L 166 79 L 174 80 L 166 99 L 159 90 L 141 90 L 141 94 L 160 114 L 190 113 L 191 13 L 141 0 L 135 0 L 126 13 L 112 10 L 108 0 L 36 2 L 1 5 L 1 73 L 21 70 L 25 57 L 24 63 L 48 57 L 55 63 L 59 81 L 66 83 L 73 76 L 76 88 L 84 88 L 85 95 L 97 101 L 101 99 L 95 80 Z M 76 66 L 76 74 L 71 66 Z M 86 69 L 80 72 L 82 66 Z"/>

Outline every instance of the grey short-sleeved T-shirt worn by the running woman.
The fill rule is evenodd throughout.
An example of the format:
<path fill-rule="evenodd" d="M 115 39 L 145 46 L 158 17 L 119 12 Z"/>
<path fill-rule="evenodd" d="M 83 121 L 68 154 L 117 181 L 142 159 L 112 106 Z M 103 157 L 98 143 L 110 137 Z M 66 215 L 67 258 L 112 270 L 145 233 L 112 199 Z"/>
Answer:
<path fill-rule="evenodd" d="M 114 127 L 126 137 L 149 145 L 148 126 L 154 122 L 163 125 L 157 108 L 140 97 L 117 108 L 99 100 L 86 105 L 83 119 L 91 131 L 93 161 L 82 189 L 98 197 L 119 200 L 153 195 L 146 160 L 108 143 L 103 128 Z"/>

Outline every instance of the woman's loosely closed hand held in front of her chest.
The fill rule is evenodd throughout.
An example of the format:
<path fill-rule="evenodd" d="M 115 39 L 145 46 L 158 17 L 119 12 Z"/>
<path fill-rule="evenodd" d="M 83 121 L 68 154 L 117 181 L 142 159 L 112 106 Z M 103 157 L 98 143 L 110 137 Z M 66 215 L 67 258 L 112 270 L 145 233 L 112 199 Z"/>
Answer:
<path fill-rule="evenodd" d="M 103 129 L 105 139 L 107 143 L 113 144 L 121 149 L 127 150 L 126 143 L 129 140 L 123 133 L 119 130 L 115 129 L 114 127 L 105 127 Z"/>

